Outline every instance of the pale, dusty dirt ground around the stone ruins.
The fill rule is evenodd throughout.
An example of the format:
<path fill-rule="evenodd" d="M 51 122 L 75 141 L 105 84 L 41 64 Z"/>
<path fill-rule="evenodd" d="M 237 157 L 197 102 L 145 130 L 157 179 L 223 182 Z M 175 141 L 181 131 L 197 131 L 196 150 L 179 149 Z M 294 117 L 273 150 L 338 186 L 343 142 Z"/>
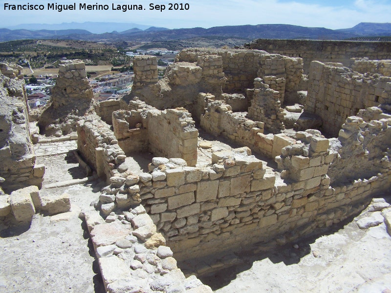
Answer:
<path fill-rule="evenodd" d="M 213 138 L 203 136 L 202 139 Z M 224 146 L 224 144 L 221 144 Z M 206 152 L 207 153 L 207 152 Z M 127 159 L 145 169 L 150 154 Z M 200 155 L 202 156 L 202 155 Z M 206 157 L 204 158 L 206 162 Z M 82 178 L 72 153 L 37 158 L 45 164 L 43 185 Z M 139 171 L 137 171 L 139 172 Z M 42 195 L 68 193 L 72 209 L 57 216 L 36 214 L 31 227 L 0 226 L 0 292 L 103 293 L 104 286 L 81 209 L 90 209 L 106 184 L 93 182 L 64 188 L 42 188 Z M 390 202 L 390 194 L 385 194 Z M 237 254 L 241 264 L 203 276 L 216 293 L 271 292 L 381 293 L 391 289 L 391 237 L 384 223 L 360 230 L 357 216 L 318 235 L 278 248 Z"/>

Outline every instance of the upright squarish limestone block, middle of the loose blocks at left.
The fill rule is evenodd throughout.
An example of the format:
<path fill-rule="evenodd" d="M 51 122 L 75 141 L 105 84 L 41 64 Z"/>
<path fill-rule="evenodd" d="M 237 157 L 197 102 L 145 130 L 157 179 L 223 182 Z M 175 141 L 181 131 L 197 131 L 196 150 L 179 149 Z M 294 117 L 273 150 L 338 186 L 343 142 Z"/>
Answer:
<path fill-rule="evenodd" d="M 30 222 L 32 216 L 35 214 L 35 208 L 27 190 L 13 191 L 10 195 L 10 205 L 12 213 L 18 222 Z"/>

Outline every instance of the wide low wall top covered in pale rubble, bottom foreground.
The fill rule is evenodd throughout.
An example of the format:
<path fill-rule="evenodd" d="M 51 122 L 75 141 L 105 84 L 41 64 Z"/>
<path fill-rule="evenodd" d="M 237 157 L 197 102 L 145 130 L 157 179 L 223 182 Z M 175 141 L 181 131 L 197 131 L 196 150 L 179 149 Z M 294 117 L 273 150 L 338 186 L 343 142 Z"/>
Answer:
<path fill-rule="evenodd" d="M 142 206 L 113 212 L 84 212 L 105 292 L 212 293 L 194 275 L 186 278 L 173 252 Z"/>

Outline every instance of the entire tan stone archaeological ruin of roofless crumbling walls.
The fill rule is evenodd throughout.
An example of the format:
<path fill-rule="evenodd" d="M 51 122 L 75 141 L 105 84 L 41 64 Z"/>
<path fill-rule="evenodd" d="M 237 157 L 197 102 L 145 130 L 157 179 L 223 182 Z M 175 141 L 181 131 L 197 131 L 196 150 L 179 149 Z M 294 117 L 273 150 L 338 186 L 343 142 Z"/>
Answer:
<path fill-rule="evenodd" d="M 307 44 L 338 51 L 322 57 L 289 42 L 184 49 L 161 79 L 155 56 L 136 56 L 131 93 L 100 103 L 84 63 L 62 61 L 41 113 L 21 68 L 0 64 L 0 220 L 69 211 L 41 188 L 104 182 L 81 217 L 105 291 L 206 293 L 197 277 L 233 252 L 358 215 L 391 187 L 390 44 Z M 86 178 L 43 185 L 35 146 L 75 140 Z"/>

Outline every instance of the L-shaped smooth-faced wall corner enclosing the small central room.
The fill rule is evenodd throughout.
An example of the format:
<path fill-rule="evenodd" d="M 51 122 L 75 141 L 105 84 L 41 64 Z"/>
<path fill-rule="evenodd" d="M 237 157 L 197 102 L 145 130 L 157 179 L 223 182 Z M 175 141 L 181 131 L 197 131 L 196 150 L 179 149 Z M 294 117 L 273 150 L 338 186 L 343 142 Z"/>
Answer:
<path fill-rule="evenodd" d="M 157 110 L 139 100 L 113 112 L 113 129 L 126 154 L 150 151 L 166 158 L 184 159 L 189 166 L 197 163 L 198 130 L 184 108 Z"/>

